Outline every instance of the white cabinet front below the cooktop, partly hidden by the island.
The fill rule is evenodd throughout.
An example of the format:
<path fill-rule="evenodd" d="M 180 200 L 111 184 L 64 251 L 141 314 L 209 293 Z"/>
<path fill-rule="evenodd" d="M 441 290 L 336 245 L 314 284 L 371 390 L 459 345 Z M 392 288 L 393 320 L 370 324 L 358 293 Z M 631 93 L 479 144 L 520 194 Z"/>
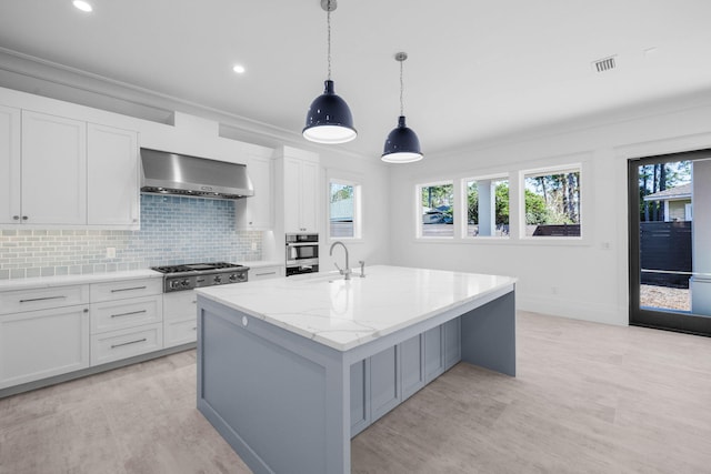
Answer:
<path fill-rule="evenodd" d="M 198 295 L 194 291 L 163 294 L 163 339 L 166 347 L 198 340 Z"/>

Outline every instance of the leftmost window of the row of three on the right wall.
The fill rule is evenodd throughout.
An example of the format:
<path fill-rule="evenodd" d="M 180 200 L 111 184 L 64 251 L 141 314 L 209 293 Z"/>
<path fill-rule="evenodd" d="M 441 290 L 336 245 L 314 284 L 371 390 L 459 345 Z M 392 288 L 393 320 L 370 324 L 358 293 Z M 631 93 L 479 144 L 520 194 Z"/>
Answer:
<path fill-rule="evenodd" d="M 420 235 L 423 238 L 454 236 L 454 185 L 452 182 L 418 185 Z"/>

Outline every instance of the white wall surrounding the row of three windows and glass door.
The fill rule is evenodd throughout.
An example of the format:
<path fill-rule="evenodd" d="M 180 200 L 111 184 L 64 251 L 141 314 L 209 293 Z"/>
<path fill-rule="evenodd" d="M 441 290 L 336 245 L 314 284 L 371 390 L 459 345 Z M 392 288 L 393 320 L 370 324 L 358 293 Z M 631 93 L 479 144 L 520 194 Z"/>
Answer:
<path fill-rule="evenodd" d="M 711 147 L 711 101 L 697 95 L 615 120 L 549 130 L 393 167 L 390 177 L 391 263 L 518 276 L 519 309 L 628 324 L 627 161 Z M 427 142 L 423 142 L 425 144 Z M 510 173 L 518 199 L 520 170 L 582 162 L 582 241 L 509 239 L 467 243 L 414 239 L 414 185 L 438 179 Z M 512 215 L 513 218 L 513 215 Z"/>

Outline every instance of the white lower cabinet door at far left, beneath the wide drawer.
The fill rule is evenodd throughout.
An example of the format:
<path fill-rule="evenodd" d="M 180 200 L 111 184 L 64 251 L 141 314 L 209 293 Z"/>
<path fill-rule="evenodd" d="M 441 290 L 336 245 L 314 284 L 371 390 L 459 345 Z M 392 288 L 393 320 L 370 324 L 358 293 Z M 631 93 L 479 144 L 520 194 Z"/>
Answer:
<path fill-rule="evenodd" d="M 0 389 L 89 366 L 89 309 L 0 316 Z"/>

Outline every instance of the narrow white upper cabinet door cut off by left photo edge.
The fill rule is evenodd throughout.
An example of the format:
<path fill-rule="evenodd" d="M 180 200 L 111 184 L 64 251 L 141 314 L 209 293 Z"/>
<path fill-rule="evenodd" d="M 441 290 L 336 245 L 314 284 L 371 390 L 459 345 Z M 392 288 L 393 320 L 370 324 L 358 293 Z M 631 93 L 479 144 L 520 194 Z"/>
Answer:
<path fill-rule="evenodd" d="M 20 109 L 0 105 L 0 223 L 21 222 Z"/>

